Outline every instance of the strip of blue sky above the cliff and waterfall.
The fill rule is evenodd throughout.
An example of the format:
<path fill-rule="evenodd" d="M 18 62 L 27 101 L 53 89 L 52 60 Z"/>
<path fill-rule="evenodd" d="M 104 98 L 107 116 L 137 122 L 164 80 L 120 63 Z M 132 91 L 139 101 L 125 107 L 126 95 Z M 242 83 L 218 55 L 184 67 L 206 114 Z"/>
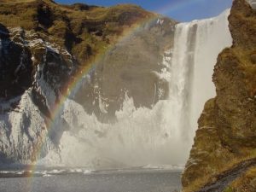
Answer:
<path fill-rule="evenodd" d="M 86 3 L 112 6 L 118 3 L 133 3 L 143 9 L 167 15 L 180 21 L 209 18 L 230 8 L 232 0 L 55 0 L 56 3 Z"/>

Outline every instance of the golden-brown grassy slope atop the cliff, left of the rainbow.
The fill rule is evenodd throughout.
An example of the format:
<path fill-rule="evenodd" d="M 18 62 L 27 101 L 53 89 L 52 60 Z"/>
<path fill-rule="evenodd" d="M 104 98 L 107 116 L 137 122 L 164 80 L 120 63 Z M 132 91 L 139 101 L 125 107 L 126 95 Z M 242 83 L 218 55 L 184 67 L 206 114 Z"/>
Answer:
<path fill-rule="evenodd" d="M 88 63 L 108 44 L 114 44 L 126 28 L 154 15 L 129 4 L 104 8 L 51 0 L 0 2 L 1 25 L 38 32 L 45 41 L 66 47 L 79 63 Z"/>

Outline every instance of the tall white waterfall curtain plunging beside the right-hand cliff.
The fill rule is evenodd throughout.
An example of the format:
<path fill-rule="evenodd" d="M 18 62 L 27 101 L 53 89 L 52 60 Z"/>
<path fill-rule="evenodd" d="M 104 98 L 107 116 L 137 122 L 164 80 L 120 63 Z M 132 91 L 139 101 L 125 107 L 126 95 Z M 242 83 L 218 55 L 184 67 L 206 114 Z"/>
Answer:
<path fill-rule="evenodd" d="M 227 20 L 230 9 L 218 17 L 178 24 L 170 70 L 170 98 L 181 135 L 192 141 L 205 102 L 215 96 L 212 73 L 218 54 L 232 44 Z M 192 143 L 191 143 L 192 144 Z"/>

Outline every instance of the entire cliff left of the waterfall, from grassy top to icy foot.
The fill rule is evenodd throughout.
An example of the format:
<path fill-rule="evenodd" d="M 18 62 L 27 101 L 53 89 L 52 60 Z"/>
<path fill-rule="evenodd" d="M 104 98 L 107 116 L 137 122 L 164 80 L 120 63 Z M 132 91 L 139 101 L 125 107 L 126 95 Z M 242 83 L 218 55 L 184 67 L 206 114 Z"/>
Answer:
<path fill-rule="evenodd" d="M 134 5 L 1 1 L 0 162 L 30 163 L 58 149 L 70 127 L 61 116 L 55 120 L 55 105 L 86 67 L 69 99 L 104 122 L 115 119 L 125 94 L 137 107 L 165 98 L 166 82 L 154 74 L 164 68 L 159 63 L 172 47 L 175 24 Z"/>

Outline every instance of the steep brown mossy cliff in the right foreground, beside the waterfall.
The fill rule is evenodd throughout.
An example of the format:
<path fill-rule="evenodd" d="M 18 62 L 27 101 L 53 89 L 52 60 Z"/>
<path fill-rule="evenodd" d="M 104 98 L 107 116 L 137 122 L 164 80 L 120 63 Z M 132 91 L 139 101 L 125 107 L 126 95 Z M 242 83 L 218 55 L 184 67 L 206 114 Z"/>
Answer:
<path fill-rule="evenodd" d="M 218 55 L 217 96 L 198 120 L 183 191 L 256 189 L 256 11 L 235 0 L 229 21 L 233 45 Z"/>

